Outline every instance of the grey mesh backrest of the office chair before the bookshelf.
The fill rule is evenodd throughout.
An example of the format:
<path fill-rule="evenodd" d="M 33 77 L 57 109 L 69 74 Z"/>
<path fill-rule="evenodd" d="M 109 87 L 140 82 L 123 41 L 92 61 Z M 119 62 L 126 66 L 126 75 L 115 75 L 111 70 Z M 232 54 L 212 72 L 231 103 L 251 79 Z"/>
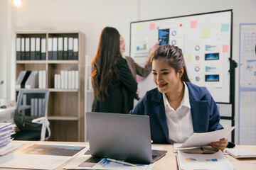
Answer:
<path fill-rule="evenodd" d="M 48 98 L 46 89 L 18 91 L 14 122 L 20 130 L 41 130 L 42 125 L 32 120 L 47 117 Z"/>

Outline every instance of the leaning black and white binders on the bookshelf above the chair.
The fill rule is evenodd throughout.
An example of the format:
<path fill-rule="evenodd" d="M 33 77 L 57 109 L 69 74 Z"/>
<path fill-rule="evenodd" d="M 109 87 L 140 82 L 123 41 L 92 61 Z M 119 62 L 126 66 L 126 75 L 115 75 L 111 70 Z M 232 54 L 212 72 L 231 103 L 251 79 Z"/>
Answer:
<path fill-rule="evenodd" d="M 46 89 L 46 70 L 21 71 L 16 79 L 16 89 Z"/>

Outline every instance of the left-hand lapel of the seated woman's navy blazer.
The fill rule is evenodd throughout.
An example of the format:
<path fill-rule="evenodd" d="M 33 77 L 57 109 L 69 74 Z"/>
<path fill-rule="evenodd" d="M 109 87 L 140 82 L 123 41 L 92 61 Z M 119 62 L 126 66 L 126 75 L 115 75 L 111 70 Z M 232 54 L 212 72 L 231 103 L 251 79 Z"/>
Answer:
<path fill-rule="evenodd" d="M 154 107 L 156 118 L 159 120 L 161 128 L 164 131 L 164 135 L 166 136 L 166 140 L 169 141 L 169 129 L 166 121 L 163 96 L 158 90 L 156 90 L 151 100 L 156 102 L 156 106 Z"/>

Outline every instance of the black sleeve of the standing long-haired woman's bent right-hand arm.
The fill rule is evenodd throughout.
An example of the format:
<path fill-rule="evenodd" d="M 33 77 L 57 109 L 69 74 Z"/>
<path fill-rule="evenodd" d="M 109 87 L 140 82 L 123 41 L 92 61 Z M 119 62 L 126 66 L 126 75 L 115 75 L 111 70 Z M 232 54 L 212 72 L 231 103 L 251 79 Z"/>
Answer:
<path fill-rule="evenodd" d="M 137 82 L 134 77 L 132 77 L 132 73 L 129 70 L 127 61 L 123 58 L 119 59 L 117 62 L 117 68 L 119 69 L 119 79 L 124 88 L 131 93 L 136 93 Z"/>

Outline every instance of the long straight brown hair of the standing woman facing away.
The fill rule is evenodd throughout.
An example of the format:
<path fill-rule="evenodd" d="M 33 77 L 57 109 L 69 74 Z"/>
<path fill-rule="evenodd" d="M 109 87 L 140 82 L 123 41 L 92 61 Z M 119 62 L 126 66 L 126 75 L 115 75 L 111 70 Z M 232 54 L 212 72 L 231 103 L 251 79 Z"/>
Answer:
<path fill-rule="evenodd" d="M 102 30 L 95 57 L 92 60 L 92 88 L 95 97 L 102 101 L 108 96 L 113 77 L 119 75 L 117 60 L 120 53 L 119 32 L 112 27 Z"/>

